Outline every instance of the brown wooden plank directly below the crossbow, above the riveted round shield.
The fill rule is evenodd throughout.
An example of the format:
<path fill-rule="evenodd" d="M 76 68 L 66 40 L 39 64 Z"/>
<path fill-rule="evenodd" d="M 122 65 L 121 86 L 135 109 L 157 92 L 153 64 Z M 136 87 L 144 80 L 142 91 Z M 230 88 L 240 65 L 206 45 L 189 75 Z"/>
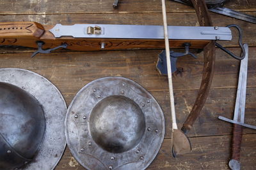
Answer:
<path fill-rule="evenodd" d="M 239 48 L 228 48 L 232 52 L 239 54 Z M 4 50 L 4 49 L 2 49 Z M 10 50 L 10 49 L 9 49 Z M 12 48 L 13 51 L 15 49 Z M 1 54 L 1 67 L 32 67 L 34 71 L 39 73 L 50 73 L 48 78 L 51 78 L 51 70 L 55 67 L 60 70 L 59 75 L 63 71 L 65 79 L 72 79 L 74 74 L 79 71 L 80 78 L 108 75 L 129 75 L 136 80 L 139 77 L 144 78 L 144 85 L 148 90 L 168 90 L 166 76 L 159 75 L 156 70 L 157 55 L 161 50 L 124 50 L 124 51 L 109 51 L 109 52 L 53 52 L 51 54 L 38 54 L 31 59 L 31 52 L 35 50 L 26 51 L 26 53 L 5 53 Z M 20 50 L 17 50 L 20 52 Z M 28 53 L 30 52 L 30 53 Z M 4 53 L 4 54 L 3 54 Z M 248 87 L 255 87 L 256 84 L 256 48 L 250 48 L 248 62 Z M 180 57 L 177 60 L 177 67 L 182 70 L 179 74 L 173 76 L 173 88 L 175 90 L 193 90 L 200 87 L 203 69 L 202 53 L 198 55 L 198 59 L 193 59 L 190 56 Z M 20 63 L 24 63 L 20 65 Z M 50 63 L 50 64 L 49 64 Z M 51 63 L 54 63 L 52 65 Z M 89 67 L 84 66 L 87 64 Z M 47 68 L 46 71 L 42 67 Z M 102 73 L 97 71 L 101 68 Z M 67 68 L 70 68 L 66 70 Z M 49 72 L 47 72 L 49 71 Z M 90 74 L 86 74 L 90 73 Z M 141 75 L 138 75 L 140 73 Z M 237 78 L 239 73 L 239 61 L 233 59 L 221 50 L 216 50 L 216 64 L 215 73 L 212 81 L 212 89 L 220 88 L 235 88 L 237 87 Z M 78 77 L 77 76 L 77 77 Z M 99 77 L 98 76 L 98 77 Z M 91 79 L 91 80 L 92 80 Z M 159 83 L 164 82 L 164 83 Z"/>

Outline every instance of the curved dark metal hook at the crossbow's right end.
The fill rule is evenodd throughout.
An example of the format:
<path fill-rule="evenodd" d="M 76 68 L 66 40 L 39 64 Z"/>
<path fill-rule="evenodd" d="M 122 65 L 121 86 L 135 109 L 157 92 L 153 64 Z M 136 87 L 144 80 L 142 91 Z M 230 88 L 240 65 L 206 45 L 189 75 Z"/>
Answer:
<path fill-rule="evenodd" d="M 224 52 L 228 53 L 228 55 L 230 55 L 231 57 L 233 57 L 234 59 L 237 59 L 237 60 L 243 60 L 244 57 L 245 57 L 245 49 L 244 49 L 244 46 L 243 46 L 243 43 L 242 43 L 242 36 L 243 36 L 243 31 L 242 29 L 238 26 L 238 25 L 235 25 L 235 24 L 232 24 L 232 25 L 227 25 L 228 28 L 230 27 L 235 27 L 237 30 L 238 30 L 238 33 L 239 33 L 239 37 L 238 37 L 238 43 L 239 43 L 239 46 L 242 50 L 242 53 L 241 53 L 241 57 L 237 57 L 234 53 L 230 52 L 230 50 L 227 50 L 226 48 L 224 48 L 222 45 L 220 45 L 219 43 L 216 43 L 215 42 L 215 45 L 218 46 L 221 50 L 223 50 Z"/>

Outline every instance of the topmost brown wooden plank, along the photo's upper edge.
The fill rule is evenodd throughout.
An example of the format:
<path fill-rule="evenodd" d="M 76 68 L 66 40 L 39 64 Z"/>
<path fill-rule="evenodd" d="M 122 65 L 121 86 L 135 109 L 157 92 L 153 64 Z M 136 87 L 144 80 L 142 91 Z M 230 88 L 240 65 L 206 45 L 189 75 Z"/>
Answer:
<path fill-rule="evenodd" d="M 66 13 L 161 13 L 161 1 L 147 0 L 122 0 L 115 10 L 112 7 L 113 0 L 2 0 L 0 3 L 0 14 L 66 14 Z M 20 8 L 22 6 L 22 8 Z M 238 11 L 255 11 L 254 0 L 232 1 L 225 4 L 225 7 Z M 193 8 L 173 1 L 166 1 L 168 12 L 193 12 Z"/>

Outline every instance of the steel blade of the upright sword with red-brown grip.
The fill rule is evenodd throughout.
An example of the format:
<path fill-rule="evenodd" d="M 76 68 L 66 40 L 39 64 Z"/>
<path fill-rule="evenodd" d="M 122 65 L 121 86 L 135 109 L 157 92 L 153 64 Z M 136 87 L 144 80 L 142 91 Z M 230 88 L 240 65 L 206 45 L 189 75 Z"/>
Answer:
<path fill-rule="evenodd" d="M 234 111 L 234 121 L 244 123 L 244 111 L 246 103 L 246 82 L 248 68 L 248 45 L 244 44 L 245 57 L 241 60 L 239 80 L 237 85 L 236 106 Z"/>

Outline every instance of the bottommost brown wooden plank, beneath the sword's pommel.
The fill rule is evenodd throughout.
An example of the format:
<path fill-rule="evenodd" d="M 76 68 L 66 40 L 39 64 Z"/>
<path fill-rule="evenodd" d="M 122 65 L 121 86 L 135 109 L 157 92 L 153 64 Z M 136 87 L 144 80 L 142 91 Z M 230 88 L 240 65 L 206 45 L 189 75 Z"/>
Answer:
<path fill-rule="evenodd" d="M 190 138 L 195 145 L 191 153 L 173 158 L 170 139 L 164 139 L 163 145 L 148 169 L 229 169 L 231 136 L 211 136 Z M 256 166 L 256 134 L 243 136 L 241 148 L 242 169 L 255 169 Z M 84 169 L 66 149 L 56 170 Z"/>

